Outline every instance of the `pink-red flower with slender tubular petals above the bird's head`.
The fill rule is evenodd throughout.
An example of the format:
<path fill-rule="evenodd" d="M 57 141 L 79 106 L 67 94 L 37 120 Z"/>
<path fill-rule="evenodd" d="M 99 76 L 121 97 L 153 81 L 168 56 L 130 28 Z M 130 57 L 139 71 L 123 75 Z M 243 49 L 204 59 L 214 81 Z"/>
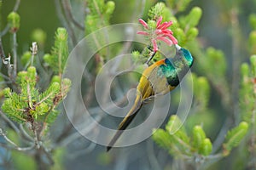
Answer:
<path fill-rule="evenodd" d="M 163 18 L 160 16 L 156 22 L 156 29 L 151 31 L 148 24 L 144 20 L 139 19 L 139 22 L 143 25 L 146 31 L 137 31 L 137 34 L 150 37 L 154 52 L 158 51 L 157 41 L 166 42 L 166 44 L 169 46 L 172 44 L 177 44 L 177 39 L 172 36 L 173 32 L 170 29 L 167 29 L 169 26 L 172 26 L 172 21 L 161 24 L 162 20 Z"/>

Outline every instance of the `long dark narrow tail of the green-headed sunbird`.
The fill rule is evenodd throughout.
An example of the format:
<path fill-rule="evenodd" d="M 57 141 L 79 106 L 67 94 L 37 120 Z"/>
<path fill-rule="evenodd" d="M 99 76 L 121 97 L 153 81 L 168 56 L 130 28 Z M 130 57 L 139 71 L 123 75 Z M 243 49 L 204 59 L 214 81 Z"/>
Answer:
<path fill-rule="evenodd" d="M 142 104 L 143 102 L 141 96 L 137 94 L 134 105 L 131 107 L 131 110 L 128 112 L 127 116 L 125 116 L 123 121 L 120 122 L 118 131 L 114 134 L 113 139 L 111 139 L 110 143 L 107 146 L 107 151 L 113 147 L 113 144 L 115 144 L 115 142 L 119 139 L 120 135 L 124 132 L 125 128 L 129 126 L 131 121 L 137 115 L 137 112 L 141 109 Z"/>

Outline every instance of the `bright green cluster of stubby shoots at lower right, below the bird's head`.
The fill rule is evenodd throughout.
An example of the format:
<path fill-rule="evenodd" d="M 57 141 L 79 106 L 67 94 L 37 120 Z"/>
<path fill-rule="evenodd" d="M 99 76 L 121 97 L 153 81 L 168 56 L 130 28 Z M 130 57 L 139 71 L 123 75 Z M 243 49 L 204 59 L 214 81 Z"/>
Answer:
<path fill-rule="evenodd" d="M 193 134 L 189 136 L 186 129 L 180 127 L 181 125 L 177 116 L 171 116 L 166 130 L 154 130 L 154 141 L 176 158 L 189 156 L 192 159 L 196 155 L 209 156 L 212 152 L 212 142 L 206 138 L 206 133 L 201 126 L 193 127 Z M 177 127 L 179 127 L 177 132 L 173 133 L 172 129 Z"/>

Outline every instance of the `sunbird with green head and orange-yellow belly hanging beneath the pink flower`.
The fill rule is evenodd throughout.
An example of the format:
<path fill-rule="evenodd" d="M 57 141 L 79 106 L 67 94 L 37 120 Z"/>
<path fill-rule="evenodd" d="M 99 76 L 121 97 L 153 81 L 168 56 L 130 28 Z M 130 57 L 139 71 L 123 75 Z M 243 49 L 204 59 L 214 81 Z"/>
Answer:
<path fill-rule="evenodd" d="M 153 65 L 148 66 L 137 85 L 137 94 L 134 105 L 120 122 L 117 133 L 107 146 L 107 151 L 119 139 L 125 128 L 142 108 L 148 99 L 154 99 L 156 95 L 164 95 L 177 87 L 189 68 L 193 65 L 193 57 L 189 50 L 175 44 L 176 54 L 173 58 L 161 59 Z"/>

